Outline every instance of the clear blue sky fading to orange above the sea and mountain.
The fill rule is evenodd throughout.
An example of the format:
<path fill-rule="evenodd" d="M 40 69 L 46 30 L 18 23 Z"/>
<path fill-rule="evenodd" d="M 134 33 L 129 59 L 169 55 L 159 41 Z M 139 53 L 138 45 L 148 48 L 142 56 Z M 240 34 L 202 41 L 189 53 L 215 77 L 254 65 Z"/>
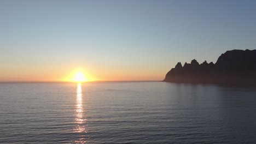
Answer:
<path fill-rule="evenodd" d="M 0 1 L 0 81 L 163 80 L 255 45 L 256 1 Z"/>

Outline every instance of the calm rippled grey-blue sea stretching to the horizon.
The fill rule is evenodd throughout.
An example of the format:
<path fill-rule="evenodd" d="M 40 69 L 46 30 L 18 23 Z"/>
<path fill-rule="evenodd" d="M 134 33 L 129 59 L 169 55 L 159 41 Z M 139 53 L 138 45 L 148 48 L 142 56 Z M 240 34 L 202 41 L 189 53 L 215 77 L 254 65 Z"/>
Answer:
<path fill-rule="evenodd" d="M 256 143 L 256 87 L 0 83 L 0 143 Z"/>

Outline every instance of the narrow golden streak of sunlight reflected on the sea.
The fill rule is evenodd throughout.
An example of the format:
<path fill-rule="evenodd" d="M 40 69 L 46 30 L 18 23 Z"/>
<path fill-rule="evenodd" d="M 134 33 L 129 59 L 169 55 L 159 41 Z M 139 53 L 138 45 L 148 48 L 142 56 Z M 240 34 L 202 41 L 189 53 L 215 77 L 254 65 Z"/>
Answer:
<path fill-rule="evenodd" d="M 83 109 L 83 93 L 81 88 L 81 83 L 77 84 L 77 101 L 75 106 L 75 124 L 76 127 L 74 129 L 75 133 L 81 134 L 80 139 L 75 141 L 75 143 L 86 143 L 85 134 L 87 133 L 87 129 L 85 128 L 86 119 L 84 117 L 84 109 Z"/>

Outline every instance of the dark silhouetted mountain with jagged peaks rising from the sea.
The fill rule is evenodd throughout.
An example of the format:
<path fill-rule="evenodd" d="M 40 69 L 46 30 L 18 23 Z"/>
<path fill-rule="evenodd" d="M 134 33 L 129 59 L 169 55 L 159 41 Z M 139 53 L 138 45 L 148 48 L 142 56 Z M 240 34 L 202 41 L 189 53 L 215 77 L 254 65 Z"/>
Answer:
<path fill-rule="evenodd" d="M 199 64 L 195 59 L 178 62 L 164 79 L 182 83 L 237 83 L 256 85 L 256 50 L 231 50 L 222 54 L 217 62 Z"/>

